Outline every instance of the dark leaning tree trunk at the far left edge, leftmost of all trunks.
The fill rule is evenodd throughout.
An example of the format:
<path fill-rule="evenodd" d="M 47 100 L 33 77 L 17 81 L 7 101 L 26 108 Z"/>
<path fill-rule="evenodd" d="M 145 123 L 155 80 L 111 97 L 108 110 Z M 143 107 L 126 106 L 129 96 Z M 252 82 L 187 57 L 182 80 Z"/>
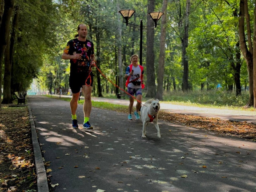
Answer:
<path fill-rule="evenodd" d="M 9 29 L 10 29 L 10 22 L 11 22 L 11 16 L 13 13 L 13 7 L 14 7 L 15 0 L 8 0 L 5 1 L 5 8 L 3 11 L 3 17 L 2 22 L 0 26 L 0 77 L 2 77 L 2 62 L 3 62 L 3 56 L 5 54 L 5 48 L 7 45 L 7 38 L 10 35 Z M 2 78 L 0 78 L 0 108 L 1 108 L 1 96 L 2 96 Z"/>

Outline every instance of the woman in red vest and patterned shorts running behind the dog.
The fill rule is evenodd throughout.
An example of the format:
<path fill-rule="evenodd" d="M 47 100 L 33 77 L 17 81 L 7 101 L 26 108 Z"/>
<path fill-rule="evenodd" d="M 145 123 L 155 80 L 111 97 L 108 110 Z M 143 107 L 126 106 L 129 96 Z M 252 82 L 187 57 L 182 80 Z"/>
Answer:
<path fill-rule="evenodd" d="M 136 99 L 138 99 L 141 102 L 142 99 L 142 89 L 144 88 L 143 84 L 143 67 L 141 65 L 138 65 L 138 55 L 132 55 L 131 56 L 131 65 L 129 65 L 125 72 L 125 78 L 126 80 L 126 87 L 127 92 L 131 95 L 135 95 Z M 134 98 L 128 95 L 129 97 L 129 115 L 128 120 L 133 120 L 131 116 L 131 112 L 133 110 L 133 103 Z M 136 104 L 136 111 L 134 111 L 134 115 L 136 119 L 140 119 L 139 117 L 139 109 L 141 107 L 141 103 L 137 101 Z"/>

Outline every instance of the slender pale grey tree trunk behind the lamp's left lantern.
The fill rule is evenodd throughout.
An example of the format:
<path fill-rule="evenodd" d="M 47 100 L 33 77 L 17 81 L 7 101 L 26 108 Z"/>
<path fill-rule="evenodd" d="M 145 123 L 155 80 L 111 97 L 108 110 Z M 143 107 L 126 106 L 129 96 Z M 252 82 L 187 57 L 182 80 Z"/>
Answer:
<path fill-rule="evenodd" d="M 117 10 L 120 10 L 119 4 L 117 3 Z M 118 23 L 118 29 L 117 29 L 117 34 L 116 34 L 116 39 L 117 39 L 117 61 L 118 61 L 118 69 L 119 69 L 119 74 L 118 74 L 118 80 L 119 80 L 119 87 L 121 89 L 124 89 L 124 78 L 123 78 L 123 65 L 122 65 L 122 27 L 121 27 L 121 21 L 120 17 L 118 15 L 117 17 L 117 23 Z M 124 94 L 122 90 L 119 90 L 120 94 Z"/>

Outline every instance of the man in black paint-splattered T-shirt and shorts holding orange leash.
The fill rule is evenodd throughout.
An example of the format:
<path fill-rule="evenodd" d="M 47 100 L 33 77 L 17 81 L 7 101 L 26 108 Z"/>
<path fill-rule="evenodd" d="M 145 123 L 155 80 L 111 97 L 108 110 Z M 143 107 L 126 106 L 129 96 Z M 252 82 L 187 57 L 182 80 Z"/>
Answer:
<path fill-rule="evenodd" d="M 70 60 L 69 86 L 72 91 L 70 109 L 72 114 L 72 127 L 78 128 L 77 124 L 77 102 L 80 95 L 80 88 L 83 89 L 85 101 L 83 103 L 84 121 L 83 129 L 93 129 L 89 123 L 91 114 L 91 90 L 93 86 L 93 73 L 91 67 L 96 64 L 94 55 L 94 45 L 86 39 L 87 27 L 85 24 L 79 24 L 77 27 L 75 39 L 67 42 L 62 59 Z"/>

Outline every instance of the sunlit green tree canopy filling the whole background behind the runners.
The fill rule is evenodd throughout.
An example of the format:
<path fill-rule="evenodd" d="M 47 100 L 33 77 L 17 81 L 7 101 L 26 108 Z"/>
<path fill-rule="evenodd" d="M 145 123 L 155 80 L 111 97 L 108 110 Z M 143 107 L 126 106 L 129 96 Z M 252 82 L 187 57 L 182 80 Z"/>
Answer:
<path fill-rule="evenodd" d="M 2 18 L 6 18 L 4 11 L 7 2 L 2 0 L 0 4 L 1 26 L 4 24 Z M 163 93 L 171 90 L 216 89 L 218 84 L 224 90 L 236 90 L 237 95 L 248 89 L 248 65 L 239 43 L 241 7 L 238 1 L 166 1 L 166 22 L 162 24 L 160 19 L 155 28 L 147 27 L 148 7 L 153 6 L 151 10 L 161 11 L 165 2 L 162 0 L 156 0 L 154 4 L 150 4 L 150 0 L 12 2 L 8 30 L 10 38 L 13 31 L 16 32 L 11 60 L 12 93 L 28 90 L 33 79 L 48 92 L 55 92 L 59 87 L 67 92 L 70 64 L 62 60 L 61 55 L 66 43 L 77 34 L 80 23 L 88 26 L 87 38 L 95 45 L 98 67 L 112 82 L 123 86 L 125 80 L 121 74 L 130 64 L 130 56 L 139 55 L 141 20 L 142 61 L 139 63 L 144 66 L 147 95 L 155 97 L 158 84 Z M 249 14 L 254 17 L 255 5 L 252 1 L 247 4 Z M 127 8 L 135 10 L 128 26 L 118 13 L 118 9 Z M 14 27 L 15 13 L 19 13 L 17 27 Z M 252 25 L 253 17 L 250 18 Z M 165 33 L 163 29 L 161 31 L 162 27 Z M 153 41 L 148 38 L 152 35 L 148 32 L 152 31 Z M 161 43 L 161 38 L 165 39 L 164 43 Z M 163 47 L 165 49 L 161 49 Z M 160 53 L 161 50 L 164 55 Z M 120 54 L 121 60 L 118 59 Z M 154 57 L 150 57 L 152 55 Z M 159 63 L 159 58 L 163 56 L 163 61 Z M 3 71 L 7 66 L 3 59 L 5 57 L 1 59 Z M 97 69 L 94 68 L 93 73 L 97 77 L 94 95 L 116 92 L 115 86 Z M 160 81 L 157 81 L 158 75 L 163 77 Z M 151 77 L 154 77 L 153 82 Z"/>

